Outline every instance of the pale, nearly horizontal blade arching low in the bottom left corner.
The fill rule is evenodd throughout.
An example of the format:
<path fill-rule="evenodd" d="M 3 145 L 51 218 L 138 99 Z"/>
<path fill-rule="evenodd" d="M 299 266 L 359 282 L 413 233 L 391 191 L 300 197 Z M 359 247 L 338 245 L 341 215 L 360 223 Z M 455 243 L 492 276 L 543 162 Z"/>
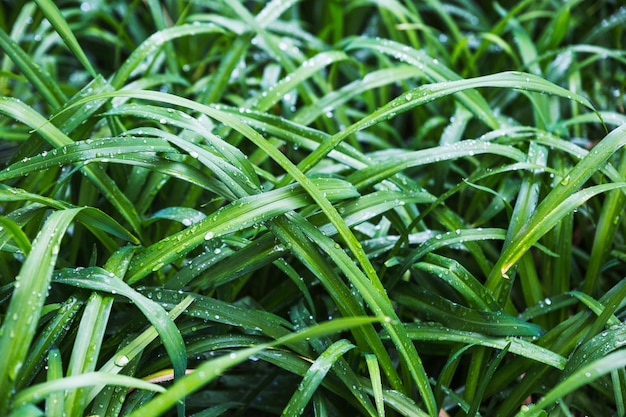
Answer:
<path fill-rule="evenodd" d="M 25 388 L 15 396 L 16 406 L 27 403 L 36 403 L 42 398 L 57 392 L 76 388 L 85 388 L 93 385 L 117 385 L 127 388 L 145 389 L 156 392 L 164 392 L 165 388 L 141 379 L 126 375 L 115 375 L 102 372 L 88 372 L 80 375 L 68 376 L 58 380 L 43 382 Z"/>

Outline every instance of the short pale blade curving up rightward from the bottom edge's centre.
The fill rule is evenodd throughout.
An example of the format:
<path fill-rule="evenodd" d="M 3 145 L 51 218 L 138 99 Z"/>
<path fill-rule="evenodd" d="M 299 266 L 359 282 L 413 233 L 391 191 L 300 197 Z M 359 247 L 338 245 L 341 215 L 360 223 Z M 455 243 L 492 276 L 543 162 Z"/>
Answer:
<path fill-rule="evenodd" d="M 328 347 L 304 375 L 297 390 L 283 409 L 283 416 L 300 416 L 304 413 L 307 403 L 330 371 L 334 363 L 346 352 L 355 346 L 345 339 L 341 339 Z"/>

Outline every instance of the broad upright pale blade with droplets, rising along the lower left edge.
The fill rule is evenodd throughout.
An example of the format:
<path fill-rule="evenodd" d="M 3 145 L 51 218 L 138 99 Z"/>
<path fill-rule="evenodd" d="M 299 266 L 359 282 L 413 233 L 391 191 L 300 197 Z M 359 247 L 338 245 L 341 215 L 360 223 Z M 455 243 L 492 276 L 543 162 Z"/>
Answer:
<path fill-rule="evenodd" d="M 6 320 L 0 327 L 0 351 L 4 352 L 6 359 L 0 367 L 0 414 L 8 411 L 15 382 L 21 375 L 29 346 L 35 337 L 61 239 L 80 211 L 56 211 L 48 217 L 15 278 Z"/>

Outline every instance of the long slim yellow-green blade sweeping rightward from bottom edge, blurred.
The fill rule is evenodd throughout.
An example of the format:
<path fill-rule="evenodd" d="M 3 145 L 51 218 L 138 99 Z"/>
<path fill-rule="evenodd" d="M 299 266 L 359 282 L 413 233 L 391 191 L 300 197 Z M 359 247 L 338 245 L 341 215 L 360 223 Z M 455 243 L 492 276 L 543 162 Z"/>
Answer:
<path fill-rule="evenodd" d="M 131 413 L 129 417 L 138 417 L 146 415 L 146 413 L 148 415 L 159 415 L 175 405 L 182 398 L 198 390 L 210 381 L 214 380 L 219 375 L 226 372 L 228 369 L 269 347 L 293 343 L 296 341 L 304 340 L 307 337 L 313 338 L 321 335 L 331 334 L 377 321 L 380 321 L 380 319 L 364 317 L 335 319 L 314 327 L 301 330 L 297 333 L 289 334 L 272 343 L 257 345 L 251 348 L 239 350 L 237 352 L 232 352 L 228 356 L 206 361 L 202 363 L 199 367 L 197 367 L 193 373 L 185 376 L 183 379 L 181 379 L 179 382 L 175 383 L 172 387 L 165 391 L 162 395 L 155 397 L 152 401 L 145 404 L 140 410 Z"/>

